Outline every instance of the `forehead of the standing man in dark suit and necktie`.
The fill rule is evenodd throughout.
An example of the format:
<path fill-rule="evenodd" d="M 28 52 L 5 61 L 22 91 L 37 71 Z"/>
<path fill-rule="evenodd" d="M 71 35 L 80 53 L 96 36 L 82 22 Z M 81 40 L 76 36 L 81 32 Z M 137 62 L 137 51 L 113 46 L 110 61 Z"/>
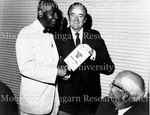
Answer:
<path fill-rule="evenodd" d="M 75 13 L 75 14 L 85 14 L 85 9 L 83 6 L 78 5 L 78 6 L 73 6 L 70 10 L 70 14 Z"/>

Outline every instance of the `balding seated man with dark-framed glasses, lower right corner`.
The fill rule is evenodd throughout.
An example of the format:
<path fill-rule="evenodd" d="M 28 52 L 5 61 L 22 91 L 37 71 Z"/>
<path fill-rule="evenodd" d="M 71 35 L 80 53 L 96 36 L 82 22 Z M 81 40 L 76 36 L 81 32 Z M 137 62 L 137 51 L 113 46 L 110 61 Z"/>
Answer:
<path fill-rule="evenodd" d="M 108 97 L 99 103 L 96 115 L 148 115 L 148 99 L 143 98 L 143 78 L 132 72 L 120 72 L 110 84 Z"/>

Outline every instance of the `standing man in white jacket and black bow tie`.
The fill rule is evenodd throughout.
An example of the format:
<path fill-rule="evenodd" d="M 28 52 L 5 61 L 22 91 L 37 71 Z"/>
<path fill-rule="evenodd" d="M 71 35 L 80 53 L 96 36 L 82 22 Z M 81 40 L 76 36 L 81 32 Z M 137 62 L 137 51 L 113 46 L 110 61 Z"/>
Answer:
<path fill-rule="evenodd" d="M 16 41 L 20 110 L 21 115 L 57 115 L 56 77 L 66 75 L 65 69 L 57 67 L 59 56 L 53 39 L 60 25 L 60 10 L 53 0 L 40 0 L 37 14 L 38 19 L 23 28 Z"/>

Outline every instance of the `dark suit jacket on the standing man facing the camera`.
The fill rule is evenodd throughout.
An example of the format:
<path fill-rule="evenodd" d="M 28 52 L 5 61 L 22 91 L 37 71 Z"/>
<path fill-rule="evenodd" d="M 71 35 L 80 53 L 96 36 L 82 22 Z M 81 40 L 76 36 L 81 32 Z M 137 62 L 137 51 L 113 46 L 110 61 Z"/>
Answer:
<path fill-rule="evenodd" d="M 63 29 L 60 33 L 55 35 L 55 41 L 59 55 L 61 57 L 59 65 L 66 65 L 63 62 L 63 59 L 65 59 L 75 49 L 75 44 L 70 28 Z M 89 97 L 92 98 L 101 96 L 99 74 L 103 73 L 106 75 L 110 75 L 113 73 L 115 67 L 109 56 L 104 40 L 101 38 L 98 31 L 84 28 L 82 43 L 88 44 L 96 51 L 96 59 L 95 61 L 92 61 L 88 58 L 76 71 L 70 73 L 71 78 L 68 81 L 58 79 L 58 90 L 61 98 L 79 97 L 81 99 L 70 99 L 70 101 L 66 101 L 64 103 L 61 101 L 61 108 L 67 105 L 71 107 L 71 104 L 73 103 L 78 104 L 79 102 L 84 102 L 83 104 L 80 103 L 80 106 L 83 105 L 83 107 L 79 107 L 78 105 L 77 108 L 87 109 L 88 107 L 85 106 L 89 106 L 88 104 L 91 104 L 91 107 L 89 107 L 88 109 L 91 111 L 95 111 L 98 104 L 96 104 L 96 101 L 94 99 L 89 100 Z M 94 102 L 94 104 L 92 102 Z M 76 107 L 73 106 L 72 108 L 74 109 Z M 64 109 L 64 111 L 70 112 L 72 110 L 70 108 L 69 110 Z"/>

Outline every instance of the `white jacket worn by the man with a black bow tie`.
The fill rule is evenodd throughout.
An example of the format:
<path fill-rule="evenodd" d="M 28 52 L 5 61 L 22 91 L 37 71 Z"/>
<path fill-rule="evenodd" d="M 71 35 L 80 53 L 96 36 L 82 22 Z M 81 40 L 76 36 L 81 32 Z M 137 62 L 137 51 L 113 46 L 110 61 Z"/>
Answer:
<path fill-rule="evenodd" d="M 44 34 L 38 20 L 23 28 L 16 41 L 21 73 L 20 109 L 26 113 L 47 114 L 54 101 L 59 105 L 57 76 L 58 52 L 52 34 Z"/>

